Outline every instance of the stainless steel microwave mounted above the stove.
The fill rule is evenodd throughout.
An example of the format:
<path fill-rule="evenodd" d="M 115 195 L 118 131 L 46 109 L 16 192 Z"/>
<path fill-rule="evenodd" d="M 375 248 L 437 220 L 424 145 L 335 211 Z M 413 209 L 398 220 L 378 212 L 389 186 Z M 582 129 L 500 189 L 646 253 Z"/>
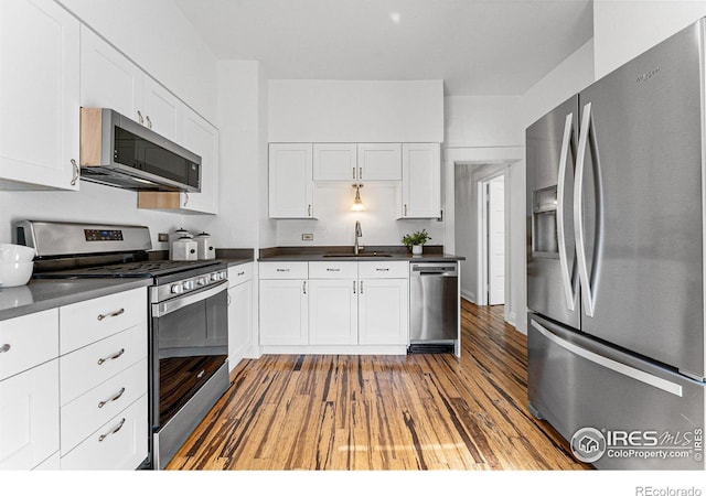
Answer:
<path fill-rule="evenodd" d="M 109 108 L 81 109 L 81 179 L 133 191 L 201 191 L 201 157 Z"/>

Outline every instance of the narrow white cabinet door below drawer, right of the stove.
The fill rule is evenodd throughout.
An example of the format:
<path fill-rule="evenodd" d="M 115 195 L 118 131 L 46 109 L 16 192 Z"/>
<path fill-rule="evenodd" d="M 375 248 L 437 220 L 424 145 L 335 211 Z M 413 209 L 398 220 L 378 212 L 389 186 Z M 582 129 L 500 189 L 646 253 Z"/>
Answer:
<path fill-rule="evenodd" d="M 240 362 L 250 346 L 253 325 L 253 281 L 228 289 L 228 367 Z"/>

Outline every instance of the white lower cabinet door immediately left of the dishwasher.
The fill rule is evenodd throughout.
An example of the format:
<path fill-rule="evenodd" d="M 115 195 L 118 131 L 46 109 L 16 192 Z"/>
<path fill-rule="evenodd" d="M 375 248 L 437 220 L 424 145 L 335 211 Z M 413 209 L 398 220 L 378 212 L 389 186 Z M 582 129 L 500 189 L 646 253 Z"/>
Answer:
<path fill-rule="evenodd" d="M 361 344 L 407 345 L 407 279 L 362 279 L 359 292 Z"/>

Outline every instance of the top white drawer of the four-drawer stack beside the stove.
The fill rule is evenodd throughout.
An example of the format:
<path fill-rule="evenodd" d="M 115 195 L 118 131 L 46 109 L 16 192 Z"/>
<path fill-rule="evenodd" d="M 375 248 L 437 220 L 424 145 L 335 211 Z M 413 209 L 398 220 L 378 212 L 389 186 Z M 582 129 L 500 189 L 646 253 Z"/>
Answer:
<path fill-rule="evenodd" d="M 140 322 L 147 322 L 147 288 L 63 306 L 60 353 L 73 352 Z"/>

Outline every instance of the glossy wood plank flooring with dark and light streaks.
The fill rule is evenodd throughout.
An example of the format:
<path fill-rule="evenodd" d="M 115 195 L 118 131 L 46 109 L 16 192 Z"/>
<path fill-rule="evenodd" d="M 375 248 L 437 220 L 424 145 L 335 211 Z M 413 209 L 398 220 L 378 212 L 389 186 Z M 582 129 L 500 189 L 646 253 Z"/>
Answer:
<path fill-rule="evenodd" d="M 265 355 L 168 470 L 587 470 L 527 411 L 526 337 L 463 301 L 462 352 Z"/>

